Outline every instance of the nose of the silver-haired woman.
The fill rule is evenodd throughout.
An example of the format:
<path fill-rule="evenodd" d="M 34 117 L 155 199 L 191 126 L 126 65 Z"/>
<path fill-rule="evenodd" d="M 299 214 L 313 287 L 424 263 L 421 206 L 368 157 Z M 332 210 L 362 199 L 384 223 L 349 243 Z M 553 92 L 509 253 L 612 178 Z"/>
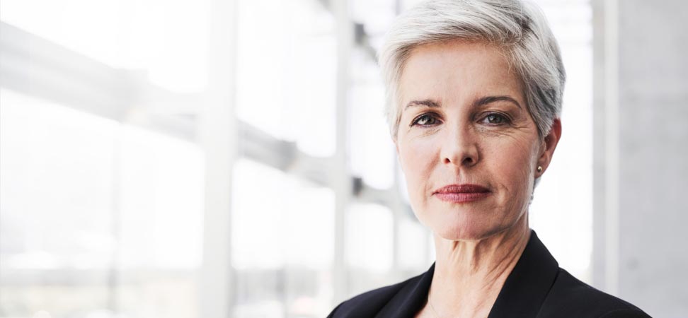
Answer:
<path fill-rule="evenodd" d="M 444 139 L 440 155 L 445 165 L 472 167 L 480 160 L 478 141 L 471 129 L 456 127 L 445 134 Z"/>

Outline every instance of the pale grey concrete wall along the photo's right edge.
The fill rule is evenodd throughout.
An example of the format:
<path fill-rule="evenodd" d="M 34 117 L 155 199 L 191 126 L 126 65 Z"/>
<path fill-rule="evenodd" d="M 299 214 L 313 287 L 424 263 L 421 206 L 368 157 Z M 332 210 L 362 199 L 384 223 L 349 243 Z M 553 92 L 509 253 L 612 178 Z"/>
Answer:
<path fill-rule="evenodd" d="M 688 1 L 595 8 L 594 281 L 688 317 Z"/>

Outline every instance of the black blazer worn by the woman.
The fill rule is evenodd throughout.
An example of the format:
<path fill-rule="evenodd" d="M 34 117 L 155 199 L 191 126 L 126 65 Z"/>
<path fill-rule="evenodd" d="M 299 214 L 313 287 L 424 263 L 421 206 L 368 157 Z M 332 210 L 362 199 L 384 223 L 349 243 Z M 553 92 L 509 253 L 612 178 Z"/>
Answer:
<path fill-rule="evenodd" d="M 328 318 L 413 318 L 425 305 L 435 264 L 420 276 L 342 302 Z M 624 300 L 602 293 L 559 268 L 531 230 L 488 318 L 643 318 Z"/>

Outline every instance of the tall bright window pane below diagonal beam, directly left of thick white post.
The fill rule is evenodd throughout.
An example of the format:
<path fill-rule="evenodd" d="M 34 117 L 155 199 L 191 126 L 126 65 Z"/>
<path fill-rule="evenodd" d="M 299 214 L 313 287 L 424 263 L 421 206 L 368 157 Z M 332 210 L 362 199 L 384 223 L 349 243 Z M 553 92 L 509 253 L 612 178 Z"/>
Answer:
<path fill-rule="evenodd" d="M 117 312 L 197 317 L 203 156 L 195 144 L 122 125 Z"/>

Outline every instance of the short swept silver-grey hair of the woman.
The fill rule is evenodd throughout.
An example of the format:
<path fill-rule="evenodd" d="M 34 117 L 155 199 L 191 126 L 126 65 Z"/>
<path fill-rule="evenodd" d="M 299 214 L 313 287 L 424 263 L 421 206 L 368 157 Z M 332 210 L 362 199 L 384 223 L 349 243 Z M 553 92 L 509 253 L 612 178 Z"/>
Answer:
<path fill-rule="evenodd" d="M 415 47 L 449 40 L 495 45 L 524 84 L 527 109 L 540 136 L 561 114 L 566 72 L 543 13 L 520 0 L 428 0 L 396 18 L 378 55 L 386 88 L 386 117 L 396 140 L 401 120 L 399 80 Z"/>

